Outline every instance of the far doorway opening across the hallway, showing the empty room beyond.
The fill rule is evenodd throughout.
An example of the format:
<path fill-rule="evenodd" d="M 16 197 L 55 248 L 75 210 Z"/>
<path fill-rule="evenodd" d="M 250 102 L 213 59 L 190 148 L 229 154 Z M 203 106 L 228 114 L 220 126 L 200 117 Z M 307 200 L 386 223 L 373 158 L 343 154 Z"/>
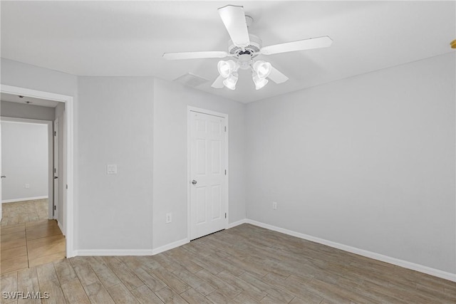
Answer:
<path fill-rule="evenodd" d="M 2 226 L 51 219 L 51 123 L 1 117 Z"/>

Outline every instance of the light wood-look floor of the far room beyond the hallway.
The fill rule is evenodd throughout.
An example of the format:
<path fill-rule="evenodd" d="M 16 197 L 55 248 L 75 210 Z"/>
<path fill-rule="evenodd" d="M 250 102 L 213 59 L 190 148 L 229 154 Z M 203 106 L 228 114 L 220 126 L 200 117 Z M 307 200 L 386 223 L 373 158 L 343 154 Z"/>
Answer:
<path fill-rule="evenodd" d="M 48 219 L 48 199 L 14 201 L 13 203 L 2 204 L 2 213 L 1 226 Z"/>

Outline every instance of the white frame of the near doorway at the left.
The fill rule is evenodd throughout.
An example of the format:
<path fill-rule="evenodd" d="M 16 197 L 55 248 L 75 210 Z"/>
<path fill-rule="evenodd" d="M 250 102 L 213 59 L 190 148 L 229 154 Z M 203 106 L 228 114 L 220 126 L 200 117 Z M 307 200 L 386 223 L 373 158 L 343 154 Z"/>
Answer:
<path fill-rule="evenodd" d="M 16 87 L 13 85 L 0 85 L 1 93 L 23 95 L 33 98 L 54 100 L 65 103 L 66 122 L 66 153 L 63 155 L 63 163 L 66 164 L 66 175 L 63 184 L 66 184 L 66 206 L 63 206 L 63 218 L 65 219 L 64 230 L 66 234 L 66 257 L 76 256 L 74 251 L 74 105 L 73 96 L 50 93 L 41 90 Z M 65 150 L 65 149 L 64 149 Z M 65 192 L 64 192 L 65 193 Z"/>

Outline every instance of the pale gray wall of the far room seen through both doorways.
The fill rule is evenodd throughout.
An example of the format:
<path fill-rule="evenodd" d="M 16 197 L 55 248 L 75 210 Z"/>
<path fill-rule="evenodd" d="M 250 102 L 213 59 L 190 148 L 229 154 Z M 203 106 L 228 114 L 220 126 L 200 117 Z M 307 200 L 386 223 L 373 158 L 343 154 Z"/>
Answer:
<path fill-rule="evenodd" d="M 1 122 L 1 165 L 2 201 L 48 197 L 48 126 Z"/>

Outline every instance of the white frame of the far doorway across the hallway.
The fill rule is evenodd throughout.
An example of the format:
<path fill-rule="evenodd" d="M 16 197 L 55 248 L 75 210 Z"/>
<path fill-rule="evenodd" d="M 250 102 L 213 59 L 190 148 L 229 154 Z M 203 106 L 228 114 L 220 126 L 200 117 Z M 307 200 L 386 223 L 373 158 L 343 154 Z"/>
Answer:
<path fill-rule="evenodd" d="M 48 130 L 48 219 L 53 219 L 53 122 L 51 120 L 34 120 L 29 118 L 0 116 L 0 122 L 19 122 L 33 125 L 47 125 Z"/>

